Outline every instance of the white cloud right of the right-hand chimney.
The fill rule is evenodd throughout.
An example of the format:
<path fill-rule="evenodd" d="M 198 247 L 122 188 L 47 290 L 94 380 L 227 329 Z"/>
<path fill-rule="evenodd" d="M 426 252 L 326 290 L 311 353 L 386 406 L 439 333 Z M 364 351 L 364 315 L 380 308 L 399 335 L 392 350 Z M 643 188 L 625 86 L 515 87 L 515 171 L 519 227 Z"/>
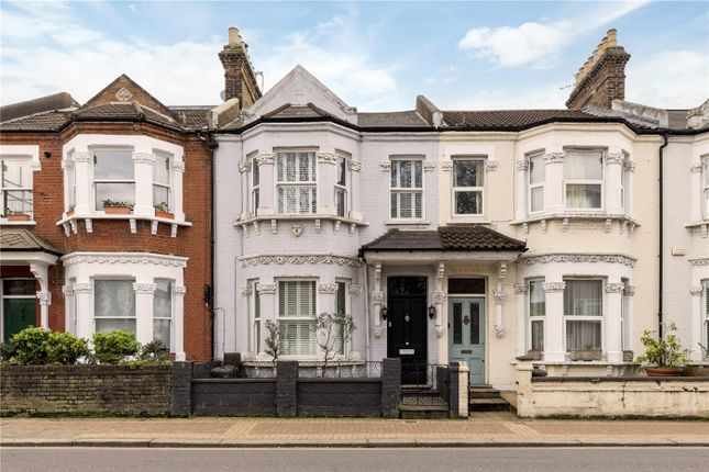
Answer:
<path fill-rule="evenodd" d="M 709 98 L 709 58 L 691 50 L 636 57 L 625 70 L 625 99 L 657 108 L 695 108 Z M 682 86 L 678 86 L 682 85 Z"/>

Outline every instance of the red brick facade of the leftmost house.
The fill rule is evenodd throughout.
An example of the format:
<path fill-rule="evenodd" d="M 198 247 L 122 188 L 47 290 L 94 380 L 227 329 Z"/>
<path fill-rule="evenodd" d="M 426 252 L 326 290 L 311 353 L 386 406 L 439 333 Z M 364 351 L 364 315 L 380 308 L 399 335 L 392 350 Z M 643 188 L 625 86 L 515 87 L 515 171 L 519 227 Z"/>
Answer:
<path fill-rule="evenodd" d="M 125 81 L 115 81 L 111 90 L 103 90 L 102 95 L 114 95 Z M 130 87 L 130 85 L 128 85 Z M 115 90 L 113 90 L 115 89 Z M 169 109 L 140 87 L 132 87 L 133 100 L 160 113 L 170 113 Z M 92 99 L 92 104 L 101 98 Z M 62 220 L 64 209 L 64 170 L 62 169 L 63 145 L 79 134 L 111 135 L 147 135 L 169 142 L 184 148 L 184 211 L 191 226 L 180 226 L 176 237 L 170 235 L 170 226 L 158 225 L 157 234 L 151 234 L 149 221 L 137 221 L 135 233 L 131 233 L 125 220 L 92 220 L 92 232 L 86 231 L 79 221 L 78 231 L 67 237 L 57 222 Z M 112 252 L 154 252 L 189 258 L 184 272 L 186 286 L 184 308 L 185 351 L 188 358 L 209 359 L 211 356 L 210 310 L 202 295 L 204 285 L 211 285 L 211 151 L 193 131 L 171 131 L 148 123 L 108 122 L 97 117 L 95 121 L 75 121 L 57 132 L 12 132 L 3 131 L 0 136 L 2 145 L 38 145 L 41 170 L 33 172 L 34 221 L 35 226 L 26 226 L 36 236 L 45 239 L 63 254 L 75 251 L 112 251 Z M 48 157 L 47 153 L 51 153 Z M 32 278 L 29 268 L 2 267 L 2 277 Z M 49 267 L 49 327 L 54 330 L 65 329 L 65 305 L 62 286 L 66 283 L 64 268 L 58 262 Z M 37 304 L 38 313 L 38 304 Z M 38 316 L 38 315 L 37 315 Z M 38 318 L 37 318 L 38 322 Z M 38 323 L 37 323 L 38 324 Z"/>

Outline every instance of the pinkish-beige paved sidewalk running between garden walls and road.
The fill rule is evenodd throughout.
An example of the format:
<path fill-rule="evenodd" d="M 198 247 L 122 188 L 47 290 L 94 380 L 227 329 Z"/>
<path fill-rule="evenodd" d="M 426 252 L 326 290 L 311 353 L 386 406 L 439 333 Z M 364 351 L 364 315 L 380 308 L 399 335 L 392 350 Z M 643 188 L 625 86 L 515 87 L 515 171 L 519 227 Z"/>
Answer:
<path fill-rule="evenodd" d="M 709 422 L 378 418 L 2 418 L 3 447 L 709 447 Z"/>

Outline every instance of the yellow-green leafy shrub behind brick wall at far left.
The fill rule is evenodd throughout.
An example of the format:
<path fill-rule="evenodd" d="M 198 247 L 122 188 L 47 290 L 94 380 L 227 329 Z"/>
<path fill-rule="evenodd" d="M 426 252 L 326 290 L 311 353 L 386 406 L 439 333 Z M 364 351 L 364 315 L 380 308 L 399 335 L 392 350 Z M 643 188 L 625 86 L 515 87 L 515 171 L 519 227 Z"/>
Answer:
<path fill-rule="evenodd" d="M 86 339 L 70 333 L 53 333 L 41 327 L 24 328 L 10 339 L 8 351 L 2 352 L 12 363 L 25 366 L 71 366 L 89 355 Z M 4 348 L 3 348 L 4 349 Z"/>

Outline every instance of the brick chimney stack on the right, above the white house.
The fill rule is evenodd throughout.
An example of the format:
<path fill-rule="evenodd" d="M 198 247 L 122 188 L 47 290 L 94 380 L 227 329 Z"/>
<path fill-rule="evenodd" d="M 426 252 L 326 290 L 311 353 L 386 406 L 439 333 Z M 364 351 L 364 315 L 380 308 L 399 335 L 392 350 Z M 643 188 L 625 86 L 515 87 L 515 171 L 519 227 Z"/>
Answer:
<path fill-rule="evenodd" d="M 595 105 L 610 110 L 613 100 L 624 100 L 625 64 L 630 54 L 617 44 L 616 34 L 616 30 L 608 30 L 594 54 L 578 69 L 567 108 Z"/>

